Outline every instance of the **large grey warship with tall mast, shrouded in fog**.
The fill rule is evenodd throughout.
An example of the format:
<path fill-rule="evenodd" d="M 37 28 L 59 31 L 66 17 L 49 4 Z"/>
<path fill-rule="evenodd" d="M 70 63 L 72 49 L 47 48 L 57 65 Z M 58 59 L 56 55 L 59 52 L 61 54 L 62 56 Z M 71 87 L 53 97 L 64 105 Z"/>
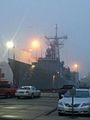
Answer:
<path fill-rule="evenodd" d="M 13 71 L 13 84 L 16 87 L 22 85 L 34 85 L 39 89 L 60 89 L 64 85 L 78 86 L 78 72 L 71 72 L 64 66 L 60 59 L 60 47 L 64 45 L 67 36 L 58 37 L 57 25 L 54 37 L 45 37 L 48 40 L 48 48 L 45 57 L 37 62 L 26 64 L 15 59 L 8 59 Z"/>

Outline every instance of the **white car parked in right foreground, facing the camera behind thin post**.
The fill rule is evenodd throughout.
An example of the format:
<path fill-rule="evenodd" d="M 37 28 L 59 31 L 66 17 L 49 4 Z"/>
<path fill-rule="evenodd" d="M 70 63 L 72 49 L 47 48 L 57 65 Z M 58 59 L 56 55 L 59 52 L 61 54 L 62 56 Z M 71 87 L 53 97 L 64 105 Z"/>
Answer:
<path fill-rule="evenodd" d="M 65 93 L 58 101 L 58 115 L 61 113 L 72 113 L 72 97 L 70 91 Z M 74 114 L 90 114 L 90 91 L 89 89 L 76 89 L 73 103 Z"/>

